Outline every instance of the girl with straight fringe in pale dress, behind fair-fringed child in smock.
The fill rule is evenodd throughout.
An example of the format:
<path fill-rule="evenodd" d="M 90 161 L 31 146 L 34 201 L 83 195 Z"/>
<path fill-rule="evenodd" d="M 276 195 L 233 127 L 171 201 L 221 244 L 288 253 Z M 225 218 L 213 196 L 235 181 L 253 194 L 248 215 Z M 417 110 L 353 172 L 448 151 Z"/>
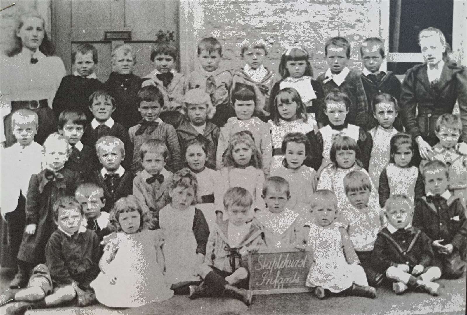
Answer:
<path fill-rule="evenodd" d="M 344 188 L 344 177 L 354 170 L 361 170 L 367 176 L 368 172 L 361 167 L 360 149 L 354 139 L 338 136 L 331 147 L 331 161 L 319 176 L 317 189 L 329 189 L 337 196 L 339 210 L 352 209 Z M 371 180 L 370 180 L 371 183 Z M 377 203 L 378 194 L 375 185 L 371 183 L 368 204 Z"/>

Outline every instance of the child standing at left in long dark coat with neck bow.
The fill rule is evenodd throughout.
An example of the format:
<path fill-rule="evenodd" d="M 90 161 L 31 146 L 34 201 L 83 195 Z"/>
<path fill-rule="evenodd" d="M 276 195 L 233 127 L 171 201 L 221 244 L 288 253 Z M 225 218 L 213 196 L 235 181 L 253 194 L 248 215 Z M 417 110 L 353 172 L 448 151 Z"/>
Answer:
<path fill-rule="evenodd" d="M 69 148 L 66 138 L 57 133 L 44 142 L 45 168 L 29 180 L 26 227 L 17 256 L 18 273 L 10 283 L 11 288 L 27 285 L 32 268 L 45 260 L 45 245 L 57 228 L 53 204 L 60 196 L 73 195 L 79 184 L 79 173 L 64 167 Z"/>

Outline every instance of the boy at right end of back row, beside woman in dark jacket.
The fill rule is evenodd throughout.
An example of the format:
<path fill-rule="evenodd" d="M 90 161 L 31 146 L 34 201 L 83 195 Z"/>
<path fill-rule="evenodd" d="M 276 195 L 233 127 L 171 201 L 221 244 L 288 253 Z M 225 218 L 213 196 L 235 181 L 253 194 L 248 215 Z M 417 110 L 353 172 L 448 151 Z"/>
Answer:
<path fill-rule="evenodd" d="M 368 118 L 370 127 L 377 126 L 373 117 L 373 98 L 380 93 L 388 93 L 399 101 L 402 83 L 391 71 L 380 71 L 385 58 L 384 43 L 377 37 L 366 38 L 360 47 L 360 56 L 363 63 L 363 71 L 360 75 L 363 88 L 368 101 Z M 373 104 L 373 106 L 371 106 Z M 396 117 L 394 127 L 402 131 L 402 121 Z"/>

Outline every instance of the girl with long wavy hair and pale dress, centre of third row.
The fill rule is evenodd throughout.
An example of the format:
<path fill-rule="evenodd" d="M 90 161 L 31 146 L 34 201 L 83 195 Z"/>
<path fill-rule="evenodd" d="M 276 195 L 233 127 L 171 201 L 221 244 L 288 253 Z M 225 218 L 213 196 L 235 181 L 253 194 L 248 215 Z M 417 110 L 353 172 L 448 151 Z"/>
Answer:
<path fill-rule="evenodd" d="M 265 209 L 261 198 L 264 173 L 261 170 L 261 153 L 249 131 L 234 133 L 224 157 L 224 167 L 217 171 L 214 185 L 214 201 L 217 220 L 227 217 L 223 215 L 224 194 L 231 187 L 247 189 L 253 196 L 253 208 Z"/>

